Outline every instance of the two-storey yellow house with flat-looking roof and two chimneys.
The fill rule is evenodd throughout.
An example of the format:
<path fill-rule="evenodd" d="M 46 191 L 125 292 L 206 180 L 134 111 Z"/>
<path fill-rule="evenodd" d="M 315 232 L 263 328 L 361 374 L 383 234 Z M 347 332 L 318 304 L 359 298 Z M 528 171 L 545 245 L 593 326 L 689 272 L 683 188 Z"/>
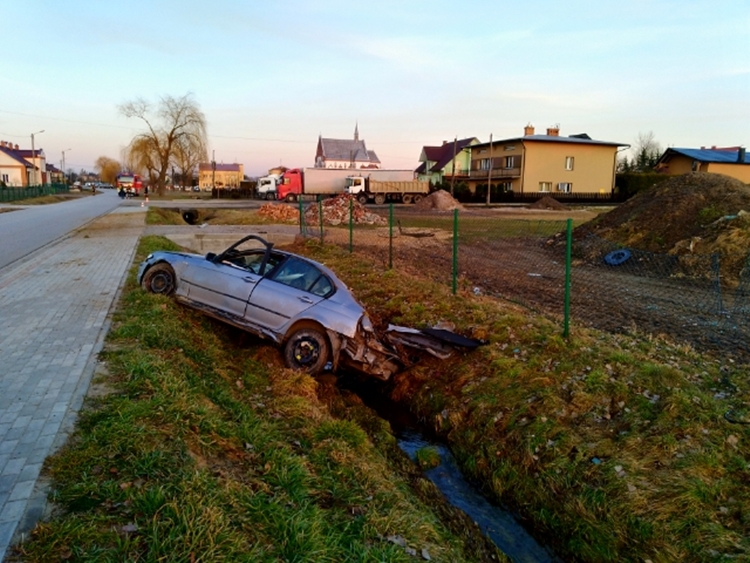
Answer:
<path fill-rule="evenodd" d="M 518 195 L 611 194 L 617 151 L 629 145 L 598 141 L 582 133 L 563 137 L 559 127 L 470 147 L 469 189 L 491 183 Z"/>

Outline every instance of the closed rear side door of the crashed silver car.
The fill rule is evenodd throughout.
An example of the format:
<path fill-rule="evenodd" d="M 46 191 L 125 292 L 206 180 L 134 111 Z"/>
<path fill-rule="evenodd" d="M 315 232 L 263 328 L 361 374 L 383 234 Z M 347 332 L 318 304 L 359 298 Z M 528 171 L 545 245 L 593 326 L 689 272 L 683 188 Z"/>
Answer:
<path fill-rule="evenodd" d="M 317 267 L 294 256 L 263 278 L 250 295 L 248 322 L 279 332 L 290 320 L 325 299 L 330 290 Z"/>

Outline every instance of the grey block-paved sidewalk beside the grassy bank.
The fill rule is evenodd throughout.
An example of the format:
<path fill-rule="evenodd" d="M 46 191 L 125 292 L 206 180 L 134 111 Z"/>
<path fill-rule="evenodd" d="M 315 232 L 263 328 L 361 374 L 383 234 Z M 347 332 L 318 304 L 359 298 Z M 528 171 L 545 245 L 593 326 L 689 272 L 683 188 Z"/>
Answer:
<path fill-rule="evenodd" d="M 73 429 L 145 211 L 120 207 L 0 270 L 0 561 L 44 514 L 42 463 Z"/>

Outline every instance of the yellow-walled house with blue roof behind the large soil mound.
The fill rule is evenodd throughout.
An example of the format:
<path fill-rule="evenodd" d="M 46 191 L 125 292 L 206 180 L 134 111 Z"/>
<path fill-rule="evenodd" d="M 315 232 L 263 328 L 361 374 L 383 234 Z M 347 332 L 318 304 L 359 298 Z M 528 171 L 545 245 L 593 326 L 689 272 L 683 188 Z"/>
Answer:
<path fill-rule="evenodd" d="M 654 169 L 670 176 L 688 172 L 725 174 L 750 184 L 750 159 L 744 147 L 670 148 L 664 152 Z"/>

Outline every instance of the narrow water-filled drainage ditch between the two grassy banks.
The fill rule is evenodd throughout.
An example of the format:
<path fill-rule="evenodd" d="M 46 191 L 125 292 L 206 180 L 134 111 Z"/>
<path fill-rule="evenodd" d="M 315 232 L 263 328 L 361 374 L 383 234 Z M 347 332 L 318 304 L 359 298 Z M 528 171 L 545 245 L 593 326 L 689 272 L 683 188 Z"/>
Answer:
<path fill-rule="evenodd" d="M 515 563 L 561 563 L 551 550 L 524 529 L 505 508 L 488 501 L 462 474 L 448 447 L 429 429 L 420 427 L 406 409 L 390 400 L 383 384 L 357 376 L 343 376 L 338 387 L 357 395 L 378 416 L 388 421 L 400 449 L 412 461 L 417 452 L 430 448 L 440 463 L 423 472 L 453 507 L 465 513 L 481 533 Z"/>

